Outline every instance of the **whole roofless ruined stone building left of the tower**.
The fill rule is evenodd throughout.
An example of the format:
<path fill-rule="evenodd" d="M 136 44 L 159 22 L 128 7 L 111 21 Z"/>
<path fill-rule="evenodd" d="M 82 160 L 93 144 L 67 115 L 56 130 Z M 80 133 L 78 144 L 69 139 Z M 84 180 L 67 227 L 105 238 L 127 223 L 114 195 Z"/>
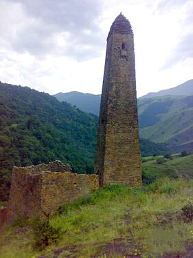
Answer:
<path fill-rule="evenodd" d="M 10 221 L 16 217 L 50 215 L 63 204 L 98 189 L 97 175 L 78 175 L 70 170 L 60 162 L 14 167 L 8 207 Z"/>

